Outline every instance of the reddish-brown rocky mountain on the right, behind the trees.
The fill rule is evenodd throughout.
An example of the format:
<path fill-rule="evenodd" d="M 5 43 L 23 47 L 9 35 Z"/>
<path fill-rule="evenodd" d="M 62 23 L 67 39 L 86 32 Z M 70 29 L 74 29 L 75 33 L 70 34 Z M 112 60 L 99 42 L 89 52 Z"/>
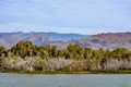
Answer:
<path fill-rule="evenodd" d="M 107 33 L 73 40 L 73 44 L 91 48 L 128 48 L 131 49 L 131 33 Z"/>

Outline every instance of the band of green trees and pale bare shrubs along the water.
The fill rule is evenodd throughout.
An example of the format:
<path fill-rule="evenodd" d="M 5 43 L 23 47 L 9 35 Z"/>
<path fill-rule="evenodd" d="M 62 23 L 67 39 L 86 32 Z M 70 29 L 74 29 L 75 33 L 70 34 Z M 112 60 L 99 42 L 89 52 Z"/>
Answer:
<path fill-rule="evenodd" d="M 69 45 L 35 46 L 20 41 L 11 49 L 0 47 L 0 70 L 25 71 L 119 71 L 131 70 L 131 51 L 126 48 L 92 49 Z"/>

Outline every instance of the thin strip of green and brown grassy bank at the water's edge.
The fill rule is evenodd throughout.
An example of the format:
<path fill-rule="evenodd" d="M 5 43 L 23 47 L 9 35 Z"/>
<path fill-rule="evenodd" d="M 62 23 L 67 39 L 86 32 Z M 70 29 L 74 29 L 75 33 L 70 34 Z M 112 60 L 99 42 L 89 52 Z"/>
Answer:
<path fill-rule="evenodd" d="M 0 71 L 1 73 L 12 74 L 131 74 L 131 70 L 120 70 L 118 72 L 112 71 Z"/>

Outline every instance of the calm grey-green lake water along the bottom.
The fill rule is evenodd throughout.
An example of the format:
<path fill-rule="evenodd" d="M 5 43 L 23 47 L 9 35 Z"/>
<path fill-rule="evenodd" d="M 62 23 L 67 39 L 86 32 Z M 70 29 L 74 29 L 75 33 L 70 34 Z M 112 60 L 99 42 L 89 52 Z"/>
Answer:
<path fill-rule="evenodd" d="M 131 74 L 26 75 L 0 73 L 0 87 L 131 87 Z"/>

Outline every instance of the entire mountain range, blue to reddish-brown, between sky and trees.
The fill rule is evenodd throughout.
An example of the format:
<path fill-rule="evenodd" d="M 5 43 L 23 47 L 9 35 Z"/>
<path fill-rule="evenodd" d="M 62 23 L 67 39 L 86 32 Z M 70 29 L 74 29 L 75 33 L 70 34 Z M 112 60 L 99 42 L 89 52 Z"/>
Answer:
<path fill-rule="evenodd" d="M 97 35 L 59 33 L 0 33 L 0 46 L 11 48 L 19 41 L 29 40 L 34 45 L 51 45 L 64 48 L 70 44 L 88 48 L 128 48 L 131 50 L 131 33 L 106 33 Z"/>

